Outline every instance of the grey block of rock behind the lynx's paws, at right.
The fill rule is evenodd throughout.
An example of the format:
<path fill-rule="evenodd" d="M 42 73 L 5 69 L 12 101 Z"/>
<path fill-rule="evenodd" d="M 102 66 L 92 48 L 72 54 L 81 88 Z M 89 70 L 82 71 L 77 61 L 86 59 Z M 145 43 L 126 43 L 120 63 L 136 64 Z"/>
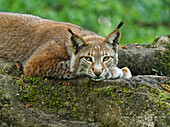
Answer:
<path fill-rule="evenodd" d="M 170 41 L 167 38 L 162 37 L 154 44 L 134 43 L 119 48 L 118 67 L 128 67 L 133 75 L 170 76 Z"/>

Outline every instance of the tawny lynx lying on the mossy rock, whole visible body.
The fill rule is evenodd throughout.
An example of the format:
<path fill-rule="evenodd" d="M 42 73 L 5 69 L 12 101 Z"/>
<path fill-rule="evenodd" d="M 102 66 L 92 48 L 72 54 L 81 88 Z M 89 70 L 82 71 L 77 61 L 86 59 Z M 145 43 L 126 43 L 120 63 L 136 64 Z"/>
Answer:
<path fill-rule="evenodd" d="M 131 78 L 127 67 L 117 67 L 122 25 L 103 38 L 71 23 L 1 12 L 0 57 L 22 63 L 26 76 Z"/>

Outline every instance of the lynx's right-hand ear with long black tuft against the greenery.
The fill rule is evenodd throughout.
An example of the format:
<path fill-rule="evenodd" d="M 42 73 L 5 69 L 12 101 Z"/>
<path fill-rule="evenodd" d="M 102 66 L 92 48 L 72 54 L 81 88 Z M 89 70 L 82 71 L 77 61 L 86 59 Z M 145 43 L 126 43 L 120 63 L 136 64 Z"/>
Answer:
<path fill-rule="evenodd" d="M 111 45 L 111 47 L 113 48 L 113 50 L 117 53 L 118 50 L 118 44 L 119 44 L 119 40 L 121 37 L 120 34 L 120 30 L 119 28 L 123 25 L 123 21 L 121 21 L 118 25 L 118 27 L 112 32 L 110 33 L 107 37 L 106 37 L 106 42 Z"/>

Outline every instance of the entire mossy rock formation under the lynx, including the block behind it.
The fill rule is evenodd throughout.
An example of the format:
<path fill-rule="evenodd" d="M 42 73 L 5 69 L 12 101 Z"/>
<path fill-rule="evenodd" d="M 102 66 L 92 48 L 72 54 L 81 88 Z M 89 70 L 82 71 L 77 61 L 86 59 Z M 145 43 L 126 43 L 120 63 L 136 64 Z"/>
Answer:
<path fill-rule="evenodd" d="M 131 69 L 131 79 L 28 78 L 0 59 L 0 125 L 170 127 L 168 46 L 125 47 L 119 66 Z"/>

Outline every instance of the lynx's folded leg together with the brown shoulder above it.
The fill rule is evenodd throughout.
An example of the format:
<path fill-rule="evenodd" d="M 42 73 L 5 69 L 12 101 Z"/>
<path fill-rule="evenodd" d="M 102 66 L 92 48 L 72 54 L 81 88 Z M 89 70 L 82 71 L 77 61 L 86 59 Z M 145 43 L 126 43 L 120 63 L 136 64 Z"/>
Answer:
<path fill-rule="evenodd" d="M 51 41 L 39 47 L 25 63 L 25 75 L 74 78 L 70 72 L 69 57 L 61 46 Z"/>

